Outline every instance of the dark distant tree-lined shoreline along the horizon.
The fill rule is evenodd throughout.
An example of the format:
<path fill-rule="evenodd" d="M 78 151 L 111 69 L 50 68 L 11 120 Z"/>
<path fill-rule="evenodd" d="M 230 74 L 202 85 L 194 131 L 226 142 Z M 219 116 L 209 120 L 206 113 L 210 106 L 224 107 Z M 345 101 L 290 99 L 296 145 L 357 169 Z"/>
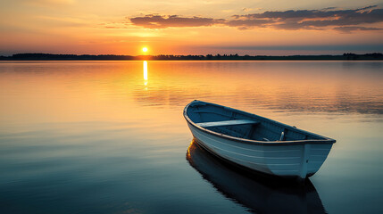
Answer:
<path fill-rule="evenodd" d="M 383 53 L 344 53 L 342 55 L 88 55 L 17 53 L 0 56 L 0 61 L 383 61 Z"/>

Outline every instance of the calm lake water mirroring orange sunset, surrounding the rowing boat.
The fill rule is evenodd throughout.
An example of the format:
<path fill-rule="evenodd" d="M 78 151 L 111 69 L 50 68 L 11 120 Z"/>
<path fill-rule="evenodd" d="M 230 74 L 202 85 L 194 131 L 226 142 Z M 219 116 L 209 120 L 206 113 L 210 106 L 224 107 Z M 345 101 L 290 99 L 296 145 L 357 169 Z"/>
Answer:
<path fill-rule="evenodd" d="M 383 62 L 0 62 L 0 213 L 383 213 Z M 203 100 L 337 139 L 304 187 L 193 144 Z"/>

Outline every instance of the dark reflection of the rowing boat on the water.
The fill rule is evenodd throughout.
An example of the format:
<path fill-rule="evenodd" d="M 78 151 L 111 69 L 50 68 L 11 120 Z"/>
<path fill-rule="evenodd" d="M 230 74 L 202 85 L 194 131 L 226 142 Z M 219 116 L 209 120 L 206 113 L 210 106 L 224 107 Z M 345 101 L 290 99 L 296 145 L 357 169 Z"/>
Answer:
<path fill-rule="evenodd" d="M 326 213 L 310 180 L 296 185 L 270 177 L 244 176 L 195 140 L 187 149 L 187 161 L 220 193 L 254 213 Z"/>

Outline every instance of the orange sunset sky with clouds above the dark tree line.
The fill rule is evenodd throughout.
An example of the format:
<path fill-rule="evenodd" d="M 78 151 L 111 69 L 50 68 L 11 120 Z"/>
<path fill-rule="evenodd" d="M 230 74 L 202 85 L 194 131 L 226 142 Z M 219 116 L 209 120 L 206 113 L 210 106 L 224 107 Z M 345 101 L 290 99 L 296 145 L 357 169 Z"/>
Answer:
<path fill-rule="evenodd" d="M 13 53 L 383 53 L 383 0 L 0 0 Z"/>

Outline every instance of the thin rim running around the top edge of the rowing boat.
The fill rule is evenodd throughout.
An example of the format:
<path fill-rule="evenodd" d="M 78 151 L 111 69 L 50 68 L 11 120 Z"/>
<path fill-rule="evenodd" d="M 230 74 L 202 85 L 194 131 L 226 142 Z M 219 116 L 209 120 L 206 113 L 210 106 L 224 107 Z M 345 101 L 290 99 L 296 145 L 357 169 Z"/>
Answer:
<path fill-rule="evenodd" d="M 246 114 L 246 115 L 255 116 L 255 117 L 258 117 L 260 119 L 268 120 L 268 121 L 271 121 L 273 123 L 276 123 L 278 125 L 281 125 L 281 126 L 284 126 L 284 127 L 287 127 L 287 128 L 294 128 L 294 129 L 296 129 L 296 130 L 298 130 L 300 132 L 304 132 L 305 134 L 310 134 L 310 135 L 313 135 L 313 136 L 318 136 L 318 137 L 321 137 L 321 138 L 324 138 L 324 139 L 318 139 L 318 140 L 308 139 L 308 140 L 296 140 L 296 141 L 257 141 L 257 140 L 252 140 L 252 139 L 240 138 L 240 137 L 236 137 L 236 136 L 224 135 L 224 134 L 221 134 L 221 133 L 218 133 L 218 132 L 214 132 L 214 131 L 209 130 L 207 128 L 203 128 L 203 127 L 200 127 L 200 126 L 196 125 L 196 123 L 187 116 L 187 108 L 192 103 L 196 103 L 196 102 L 210 104 L 210 105 L 218 106 L 218 107 L 223 107 L 224 109 L 228 109 L 230 111 L 237 111 L 237 112 L 240 112 L 240 113 L 243 113 L 243 114 Z M 227 106 L 223 106 L 223 105 L 219 105 L 219 104 L 215 104 L 215 103 L 207 103 L 207 102 L 204 102 L 204 101 L 194 100 L 191 103 L 188 103 L 187 106 L 185 106 L 183 114 L 184 114 L 184 118 L 187 119 L 187 123 L 188 124 L 192 125 L 193 127 L 197 128 L 197 129 L 199 129 L 199 130 L 201 130 L 201 131 L 203 131 L 203 132 L 205 132 L 207 134 L 211 134 L 213 136 L 219 136 L 219 137 L 224 138 L 224 139 L 229 139 L 229 140 L 232 140 L 232 141 L 236 141 L 236 142 L 240 142 L 240 143 L 245 143 L 245 144 L 289 145 L 289 144 L 335 144 L 336 143 L 336 140 L 334 140 L 332 138 L 329 138 L 327 136 L 321 136 L 321 135 L 318 135 L 318 134 L 314 134 L 312 132 L 308 132 L 308 131 L 305 131 L 305 130 L 300 129 L 300 128 L 295 128 L 295 127 L 289 126 L 287 124 L 281 123 L 281 122 L 273 120 L 273 119 L 264 118 L 262 116 L 255 115 L 255 114 L 252 114 L 252 113 L 249 113 L 249 112 L 246 112 L 246 111 L 240 111 L 240 110 L 237 110 L 237 109 L 233 109 L 233 108 L 230 108 L 230 107 L 227 107 Z"/>

